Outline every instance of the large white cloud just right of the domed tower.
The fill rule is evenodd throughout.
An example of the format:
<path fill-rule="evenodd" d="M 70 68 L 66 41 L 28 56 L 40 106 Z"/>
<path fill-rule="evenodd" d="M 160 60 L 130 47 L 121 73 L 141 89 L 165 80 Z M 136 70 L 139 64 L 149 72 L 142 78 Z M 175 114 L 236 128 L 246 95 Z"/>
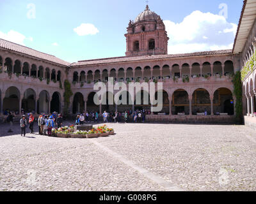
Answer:
<path fill-rule="evenodd" d="M 164 20 L 164 24 L 169 54 L 230 49 L 237 30 L 223 16 L 201 11 L 193 11 L 180 23 Z"/>

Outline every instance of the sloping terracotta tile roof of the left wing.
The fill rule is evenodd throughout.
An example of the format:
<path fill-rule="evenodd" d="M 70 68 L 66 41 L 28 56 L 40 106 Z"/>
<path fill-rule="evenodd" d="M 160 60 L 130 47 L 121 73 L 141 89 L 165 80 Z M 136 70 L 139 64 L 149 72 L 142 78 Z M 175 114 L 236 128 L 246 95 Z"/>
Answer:
<path fill-rule="evenodd" d="M 54 55 L 49 55 L 49 54 L 45 54 L 43 52 L 39 52 L 36 50 L 33 50 L 31 48 L 16 44 L 16 43 L 12 43 L 10 41 L 7 40 L 3 40 L 0 38 L 0 48 L 5 48 L 8 50 L 12 50 L 15 52 L 19 52 L 22 54 L 26 54 L 32 57 L 37 57 L 39 59 L 43 59 L 45 61 L 50 61 L 50 62 L 54 62 L 56 64 L 60 64 L 60 65 L 64 65 L 64 66 L 69 66 L 70 63 L 63 61 L 62 59 L 59 59 L 57 57 L 55 57 Z"/>

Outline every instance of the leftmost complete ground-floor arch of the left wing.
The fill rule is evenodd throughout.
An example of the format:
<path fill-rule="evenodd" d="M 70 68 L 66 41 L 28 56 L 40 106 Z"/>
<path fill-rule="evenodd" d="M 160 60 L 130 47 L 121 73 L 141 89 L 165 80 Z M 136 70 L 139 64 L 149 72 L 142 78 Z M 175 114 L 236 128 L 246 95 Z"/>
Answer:
<path fill-rule="evenodd" d="M 20 110 L 20 91 L 17 87 L 9 87 L 5 92 L 3 100 L 3 110 L 19 112 Z"/>

